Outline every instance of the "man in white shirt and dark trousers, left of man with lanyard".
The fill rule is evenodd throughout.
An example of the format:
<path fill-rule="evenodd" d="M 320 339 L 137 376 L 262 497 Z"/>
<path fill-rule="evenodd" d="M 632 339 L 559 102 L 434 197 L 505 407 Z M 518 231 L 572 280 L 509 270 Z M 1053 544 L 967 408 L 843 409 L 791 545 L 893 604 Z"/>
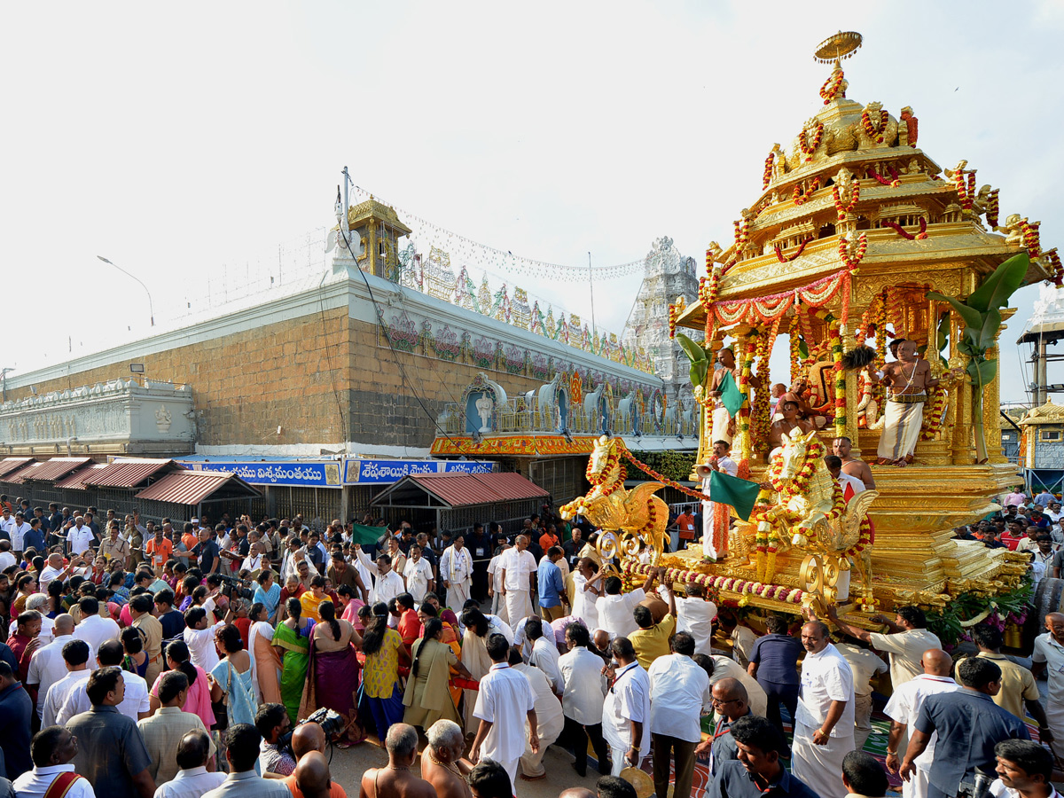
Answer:
<path fill-rule="evenodd" d="M 575 748 L 572 767 L 581 778 L 587 775 L 587 739 L 592 741 L 599 772 L 610 772 L 610 758 L 602 737 L 602 701 L 605 697 L 605 679 L 602 660 L 587 646 L 591 635 L 587 628 L 570 624 L 565 628 L 567 654 L 558 660 L 558 668 L 565 682 L 562 694 L 562 712 L 565 715 L 565 739 Z"/>

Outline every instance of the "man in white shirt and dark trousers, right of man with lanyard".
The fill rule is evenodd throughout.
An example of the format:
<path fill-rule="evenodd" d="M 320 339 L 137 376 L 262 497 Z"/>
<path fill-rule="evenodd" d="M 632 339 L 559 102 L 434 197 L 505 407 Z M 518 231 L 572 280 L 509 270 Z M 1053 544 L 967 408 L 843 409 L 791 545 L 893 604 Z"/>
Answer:
<path fill-rule="evenodd" d="M 650 664 L 650 738 L 654 745 L 654 792 L 668 793 L 669 763 L 675 759 L 675 798 L 691 798 L 695 746 L 702 738 L 701 716 L 713 708 L 709 675 L 693 660 L 695 638 L 677 632 L 672 653 Z"/>

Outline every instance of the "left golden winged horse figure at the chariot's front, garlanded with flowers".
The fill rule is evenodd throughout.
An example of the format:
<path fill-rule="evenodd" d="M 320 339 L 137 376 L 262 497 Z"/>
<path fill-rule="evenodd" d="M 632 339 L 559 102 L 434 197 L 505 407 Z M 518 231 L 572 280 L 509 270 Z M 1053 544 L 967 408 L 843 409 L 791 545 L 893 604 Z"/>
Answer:
<path fill-rule="evenodd" d="M 621 553 L 635 556 L 641 544 L 653 552 L 651 563 L 656 564 L 665 546 L 665 527 L 668 525 L 668 505 L 653 493 L 665 487 L 661 482 L 645 482 L 632 491 L 625 489 L 625 466 L 620 462 L 617 438 L 603 435 L 595 442 L 595 450 L 587 464 L 587 481 L 592 489 L 586 496 L 564 504 L 559 513 L 569 520 L 582 515 L 604 532 L 598 541 L 598 551 L 603 560 Z"/>

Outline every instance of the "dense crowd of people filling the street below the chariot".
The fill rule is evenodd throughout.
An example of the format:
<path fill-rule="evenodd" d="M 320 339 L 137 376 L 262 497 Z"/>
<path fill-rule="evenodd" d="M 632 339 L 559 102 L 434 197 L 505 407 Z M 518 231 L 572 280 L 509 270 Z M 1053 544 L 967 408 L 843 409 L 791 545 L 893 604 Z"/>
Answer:
<path fill-rule="evenodd" d="M 834 471 L 870 487 L 845 439 L 835 452 Z M 689 798 L 698 766 L 714 798 L 878 797 L 886 770 L 862 750 L 875 680 L 891 696 L 885 768 L 907 798 L 995 774 L 998 798 L 1053 795 L 1064 615 L 1047 617 L 1027 669 L 990 624 L 970 630 L 978 653 L 954 660 L 915 606 L 874 618 L 880 632 L 834 612 L 754 631 L 663 568 L 626 591 L 598 531 L 550 515 L 516 534 L 403 522 L 369 542 L 339 520 L 142 525 L 26 501 L 13 513 L 5 499 L 0 798 L 345 798 L 323 752 L 367 737 L 389 764 L 347 786 L 375 798 L 515 795 L 546 778 L 549 748 L 579 777 L 594 754 L 596 792 L 567 798 L 629 798 L 639 778 Z M 957 536 L 1059 575 L 1057 498 L 1003 503 Z"/>

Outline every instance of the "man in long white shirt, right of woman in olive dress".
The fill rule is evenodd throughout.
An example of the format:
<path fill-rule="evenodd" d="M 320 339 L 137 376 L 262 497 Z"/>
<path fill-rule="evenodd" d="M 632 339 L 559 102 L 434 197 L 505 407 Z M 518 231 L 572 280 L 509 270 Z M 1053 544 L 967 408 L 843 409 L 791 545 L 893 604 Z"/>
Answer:
<path fill-rule="evenodd" d="M 511 785 L 517 783 L 517 764 L 525 753 L 525 718 L 528 718 L 528 746 L 533 753 L 539 751 L 539 737 L 535 714 L 535 694 L 532 683 L 518 670 L 510 667 L 510 644 L 501 634 L 487 638 L 487 655 L 492 668 L 480 680 L 473 717 L 480 719 L 477 736 L 472 741 L 469 761 L 477 763 L 481 755 L 502 765 L 510 775 Z"/>

